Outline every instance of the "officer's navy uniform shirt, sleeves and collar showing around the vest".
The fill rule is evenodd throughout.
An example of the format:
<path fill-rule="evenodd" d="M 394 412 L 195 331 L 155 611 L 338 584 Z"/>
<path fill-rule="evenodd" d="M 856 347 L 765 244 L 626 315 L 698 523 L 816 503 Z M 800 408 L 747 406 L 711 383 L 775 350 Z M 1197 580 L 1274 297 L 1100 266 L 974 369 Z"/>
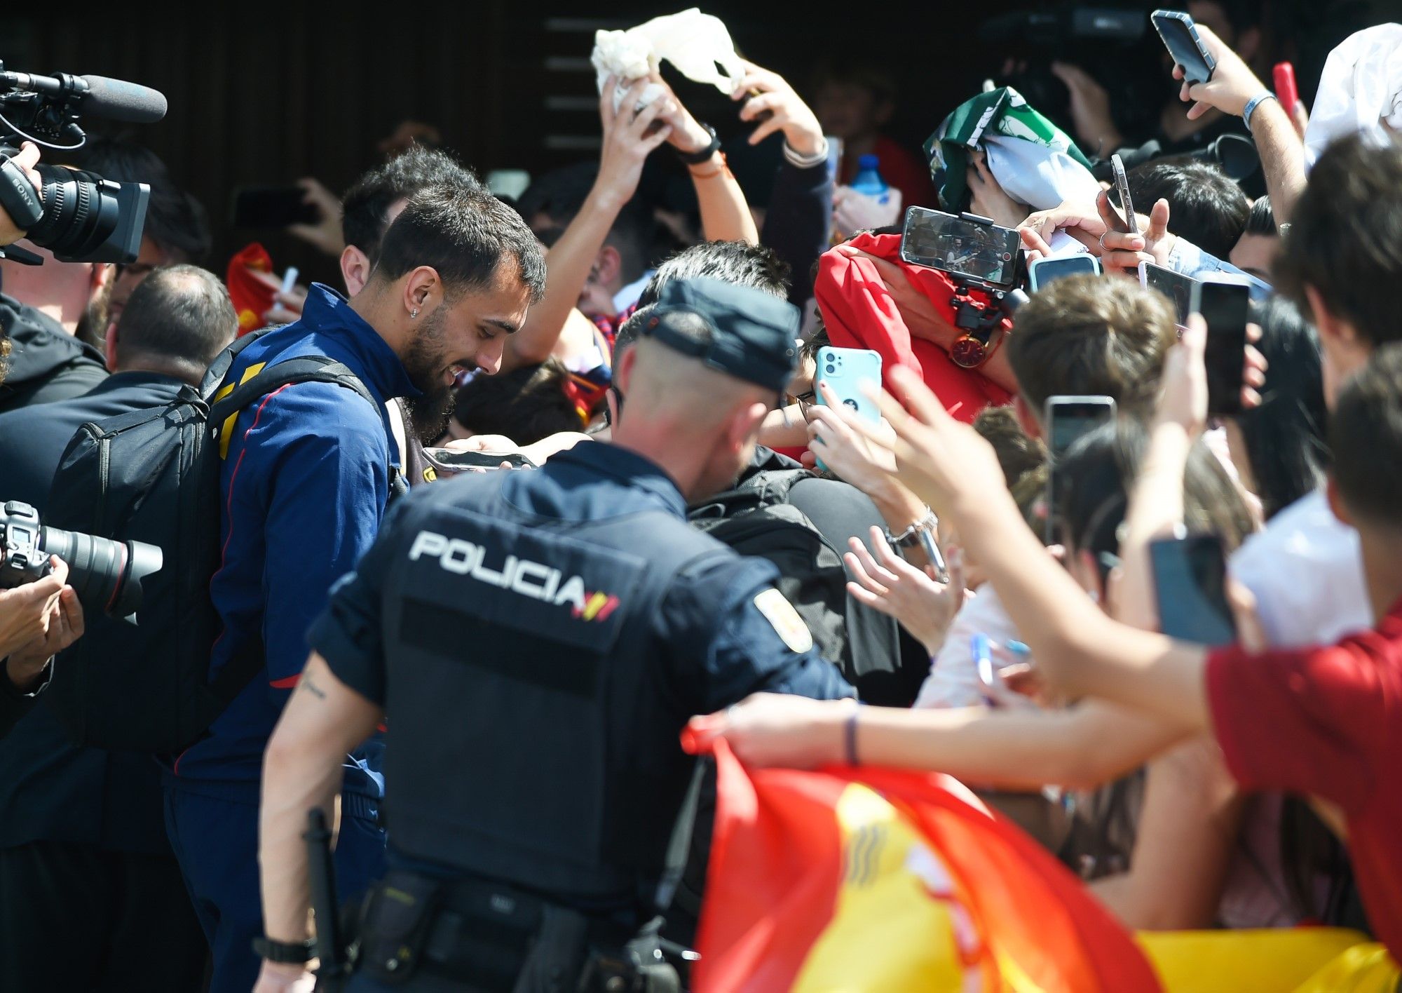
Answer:
<path fill-rule="evenodd" d="M 327 612 L 310 633 L 315 651 L 350 689 L 386 705 L 381 633 L 383 579 L 394 557 L 409 550 L 415 508 L 451 504 L 454 481 L 428 487 L 391 512 L 380 539 L 356 571 L 332 589 Z M 600 520 L 666 511 L 687 527 L 686 499 L 667 474 L 639 454 L 590 442 L 554 456 L 540 470 L 506 481 L 503 495 L 530 515 Z M 649 536 L 635 551 L 646 554 Z M 659 662 L 674 668 L 677 729 L 691 714 L 733 704 L 758 690 L 815 698 L 854 696 L 851 686 L 813 649 L 798 613 L 774 589 L 775 568 L 716 547 L 677 574 L 651 619 Z M 470 649 L 464 645 L 464 651 Z M 677 746 L 676 738 L 666 742 Z"/>

